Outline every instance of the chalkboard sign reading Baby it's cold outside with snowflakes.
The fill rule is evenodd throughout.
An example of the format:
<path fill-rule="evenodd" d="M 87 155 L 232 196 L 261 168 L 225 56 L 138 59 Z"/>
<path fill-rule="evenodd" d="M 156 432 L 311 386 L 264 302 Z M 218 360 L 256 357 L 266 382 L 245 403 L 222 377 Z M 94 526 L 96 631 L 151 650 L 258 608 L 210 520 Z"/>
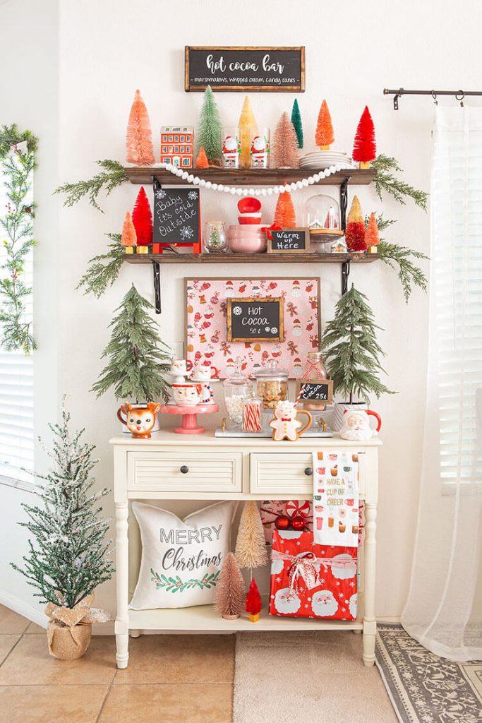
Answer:
<path fill-rule="evenodd" d="M 154 183 L 152 244 L 199 244 L 199 189 L 164 188 Z"/>

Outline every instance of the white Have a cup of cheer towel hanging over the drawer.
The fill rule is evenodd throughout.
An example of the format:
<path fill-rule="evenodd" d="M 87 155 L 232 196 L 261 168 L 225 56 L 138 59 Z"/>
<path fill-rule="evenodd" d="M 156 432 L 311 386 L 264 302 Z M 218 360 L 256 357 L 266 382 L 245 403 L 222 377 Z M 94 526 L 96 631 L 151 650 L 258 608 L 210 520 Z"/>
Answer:
<path fill-rule="evenodd" d="M 358 455 L 314 452 L 314 542 L 358 547 L 358 516 Z"/>

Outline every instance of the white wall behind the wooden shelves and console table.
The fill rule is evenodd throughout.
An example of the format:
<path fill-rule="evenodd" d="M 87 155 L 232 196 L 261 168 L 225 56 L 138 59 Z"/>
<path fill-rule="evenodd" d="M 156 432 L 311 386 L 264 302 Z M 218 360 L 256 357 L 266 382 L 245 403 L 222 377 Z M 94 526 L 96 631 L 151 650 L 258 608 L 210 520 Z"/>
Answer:
<path fill-rule="evenodd" d="M 38 4 L 16 3 L 29 9 Z M 55 16 L 55 4 L 43 3 Z M 0 13 L 12 17 L 13 3 L 0 6 Z M 298 95 L 304 120 L 306 150 L 314 150 L 314 125 L 323 98 L 327 98 L 335 126 L 335 146 L 350 150 L 363 106 L 367 103 L 376 124 L 379 152 L 394 155 L 416 187 L 429 189 L 431 121 L 429 98 L 402 98 L 395 112 L 392 100 L 382 95 L 384 87 L 476 89 L 480 64 L 474 61 L 478 48 L 480 4 L 454 4 L 444 0 L 421 4 L 416 0 L 370 0 L 363 11 L 355 4 L 309 0 L 238 4 L 220 0 L 209 3 L 191 0 L 175 3 L 143 0 L 62 0 L 59 20 L 59 179 L 74 181 L 95 172 L 93 161 L 124 158 L 126 119 L 134 90 L 139 87 L 150 111 L 156 145 L 162 124 L 197 123 L 202 95 L 184 93 L 184 45 L 301 45 L 306 46 L 306 93 Z M 353 9 L 352 9 L 353 8 Z M 30 12 L 31 17 L 31 12 Z M 0 20 L 3 20 L 0 15 Z M 35 25 L 33 25 L 35 27 Z M 6 34 L 8 37 L 8 33 Z M 23 39 L 15 38 L 16 43 Z M 43 46 L 38 35 L 36 43 Z M 26 46 L 22 53 L 35 67 L 40 62 L 38 46 Z M 45 82 L 52 82 L 55 68 L 40 67 Z M 0 80 L 4 83 L 4 79 Z M 7 94 L 7 98 L 6 98 Z M 31 127 L 50 143 L 52 108 L 36 102 L 22 107 L 17 87 L 2 90 L 21 127 Z M 220 114 L 226 124 L 236 123 L 244 96 L 218 95 Z M 454 101 L 449 100 L 449 103 Z M 470 101 L 472 102 L 472 101 Z M 251 94 L 259 122 L 275 127 L 278 117 L 291 111 L 291 94 Z M 32 111 L 35 111 L 32 113 Z M 3 122 L 4 119 L 1 119 Z M 54 121 L 52 121 L 54 123 Z M 49 126 L 46 129 L 46 125 Z M 41 132 L 41 131 L 44 132 Z M 40 146 L 40 147 L 45 147 Z M 40 194 L 40 169 L 37 179 Z M 126 265 L 116 285 L 100 300 L 74 291 L 87 260 L 106 246 L 103 234 L 119 231 L 126 209 L 131 208 L 138 187 L 124 186 L 108 200 L 101 201 L 105 215 L 82 202 L 73 209 L 59 210 L 56 264 L 57 309 L 51 308 L 51 322 L 38 326 L 46 345 L 57 333 L 57 387 L 69 395 L 74 422 L 87 427 L 87 437 L 98 445 L 98 484 L 112 484 L 112 455 L 107 440 L 117 425 L 116 402 L 112 395 L 95 401 L 90 385 L 100 370 L 100 354 L 108 341 L 107 326 L 113 308 L 134 281 L 139 291 L 152 300 L 150 268 Z M 334 189 L 333 189 L 334 190 Z M 372 187 L 357 189 L 366 212 L 381 211 L 398 223 L 387 236 L 413 249 L 429 249 L 429 218 L 413 203 L 405 207 L 390 199 L 380 202 Z M 43 189 L 46 213 L 54 213 L 55 198 Z M 296 209 L 301 215 L 310 191 L 297 192 Z M 38 196 L 40 201 L 40 196 Z M 269 221 L 274 202 L 264 202 Z M 49 211 L 47 211 L 47 208 Z M 236 220 L 236 202 L 205 192 L 203 219 Z M 45 229 L 38 258 L 55 235 L 55 221 Z M 50 261 L 50 259 L 49 259 Z M 322 320 L 330 319 L 340 294 L 337 267 L 320 265 L 322 278 Z M 314 272 L 299 265 L 296 273 Z M 183 341 L 184 275 L 199 273 L 196 267 L 168 265 L 162 269 L 165 305 L 173 313 L 160 317 L 163 338 L 168 343 Z M 213 266 L 206 273 L 223 275 Z M 275 265 L 272 275 L 286 275 L 285 265 Z M 259 275 L 254 266 L 235 266 L 233 275 Z M 369 295 L 376 320 L 384 329 L 379 341 L 387 352 L 385 368 L 391 388 L 399 393 L 387 396 L 374 408 L 382 414 L 384 448 L 380 468 L 379 562 L 377 610 L 380 616 L 400 615 L 410 574 L 413 533 L 416 522 L 418 476 L 421 458 L 423 400 L 425 390 L 427 300 L 420 291 L 405 306 L 395 275 L 382 263 L 353 265 L 350 281 Z M 41 279 L 37 280 L 38 285 Z M 37 304 L 45 307 L 40 294 Z M 57 322 L 57 324 L 56 324 Z M 40 376 L 40 375 L 39 375 Z M 46 383 L 47 377 L 44 377 Z M 40 378 L 38 378 L 40 383 Z M 53 378 L 51 383 L 55 383 Z M 40 424 L 40 419 L 38 420 Z M 1 495 L 1 491 L 0 491 Z M 20 500 L 19 500 L 20 501 Z M 112 513 L 113 505 L 106 505 Z M 20 539 L 22 531 L 9 524 L 9 535 Z M 98 594 L 98 602 L 114 611 L 113 584 Z"/>

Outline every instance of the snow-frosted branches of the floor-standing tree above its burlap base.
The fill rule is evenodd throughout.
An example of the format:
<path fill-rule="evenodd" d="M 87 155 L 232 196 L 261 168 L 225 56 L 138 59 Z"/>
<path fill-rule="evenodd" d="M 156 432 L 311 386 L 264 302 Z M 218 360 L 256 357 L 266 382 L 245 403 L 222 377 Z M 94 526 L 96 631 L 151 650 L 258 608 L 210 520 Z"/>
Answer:
<path fill-rule="evenodd" d="M 40 502 L 22 505 L 29 517 L 21 522 L 31 538 L 24 567 L 12 567 L 25 575 L 35 596 L 72 609 L 113 573 L 111 540 L 106 540 L 109 521 L 99 517 L 99 500 L 108 489 L 93 492 L 90 472 L 98 460 L 92 459 L 95 445 L 81 441 L 83 429 L 73 434 L 70 414 L 62 408 L 61 424 L 50 425 L 53 468 L 38 492 Z"/>

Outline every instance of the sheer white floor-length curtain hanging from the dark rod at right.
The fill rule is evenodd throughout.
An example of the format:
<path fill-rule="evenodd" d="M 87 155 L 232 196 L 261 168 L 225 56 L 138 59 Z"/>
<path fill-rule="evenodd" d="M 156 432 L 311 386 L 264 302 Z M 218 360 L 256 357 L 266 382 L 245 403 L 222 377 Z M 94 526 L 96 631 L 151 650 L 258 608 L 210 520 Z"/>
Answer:
<path fill-rule="evenodd" d="M 431 177 L 429 367 L 405 630 L 437 655 L 482 659 L 482 108 L 437 108 Z"/>

